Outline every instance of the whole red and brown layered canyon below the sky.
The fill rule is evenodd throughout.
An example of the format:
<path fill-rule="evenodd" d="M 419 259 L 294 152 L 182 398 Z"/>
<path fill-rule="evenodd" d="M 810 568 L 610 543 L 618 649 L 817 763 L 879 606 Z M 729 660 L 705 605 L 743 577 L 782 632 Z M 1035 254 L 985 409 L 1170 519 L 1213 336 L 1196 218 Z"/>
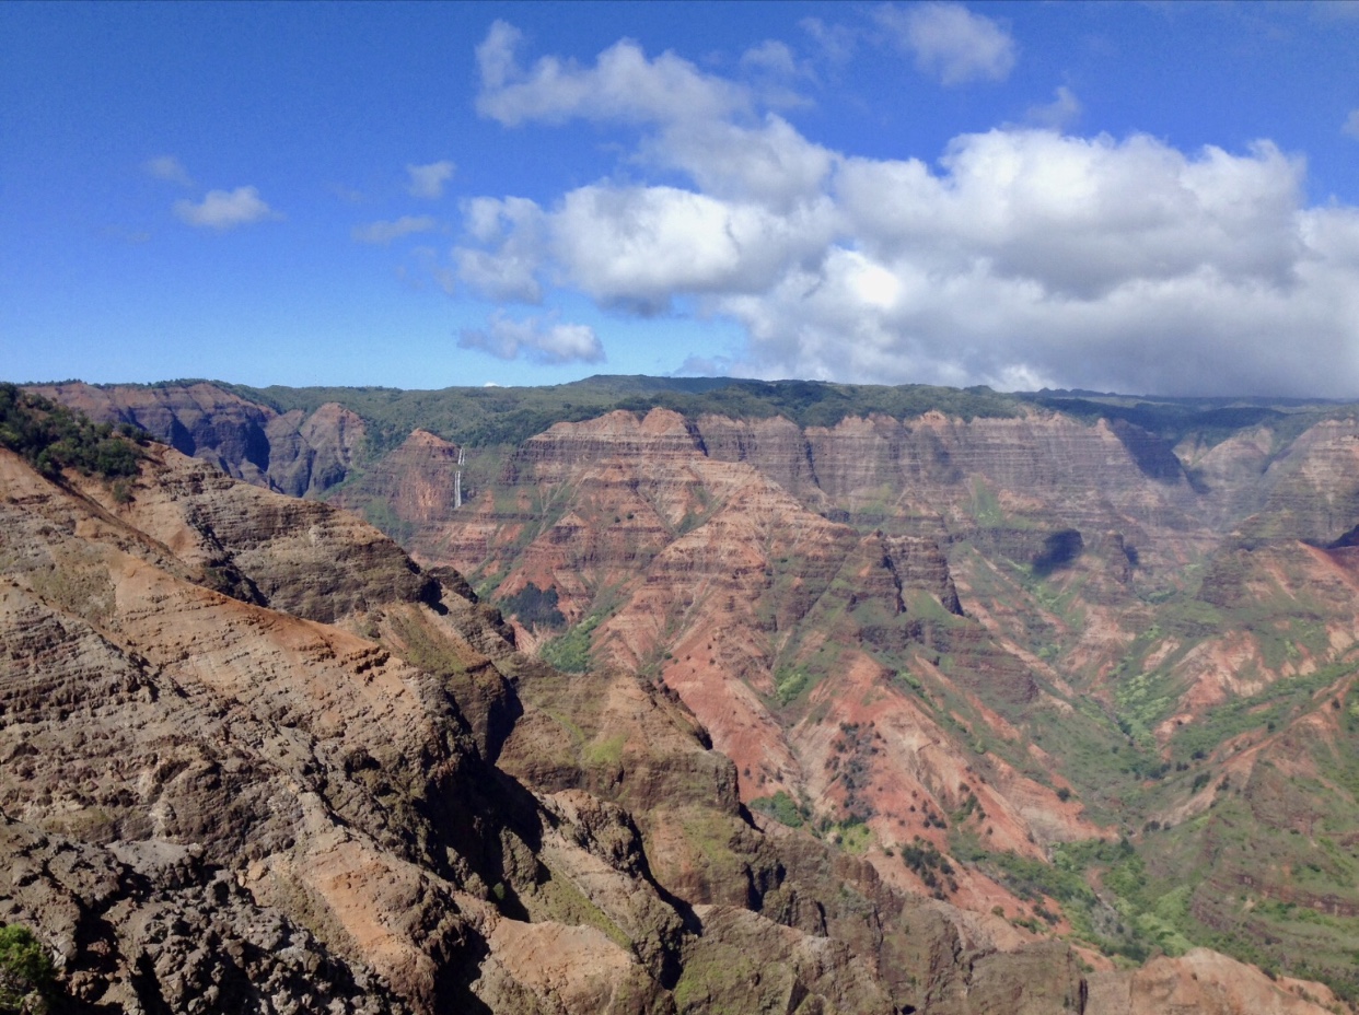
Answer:
<path fill-rule="evenodd" d="M 1359 997 L 1352 406 L 34 391 L 163 442 L 0 452 L 0 921 L 69 1004 Z"/>

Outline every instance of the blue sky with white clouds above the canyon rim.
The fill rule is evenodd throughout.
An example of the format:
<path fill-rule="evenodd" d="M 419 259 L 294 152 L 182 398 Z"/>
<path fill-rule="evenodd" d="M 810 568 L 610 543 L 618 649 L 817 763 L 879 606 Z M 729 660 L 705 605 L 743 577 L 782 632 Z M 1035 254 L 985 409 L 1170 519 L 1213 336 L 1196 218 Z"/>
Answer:
<path fill-rule="evenodd" d="M 0 379 L 591 374 L 1359 398 L 1359 4 L 0 4 Z"/>

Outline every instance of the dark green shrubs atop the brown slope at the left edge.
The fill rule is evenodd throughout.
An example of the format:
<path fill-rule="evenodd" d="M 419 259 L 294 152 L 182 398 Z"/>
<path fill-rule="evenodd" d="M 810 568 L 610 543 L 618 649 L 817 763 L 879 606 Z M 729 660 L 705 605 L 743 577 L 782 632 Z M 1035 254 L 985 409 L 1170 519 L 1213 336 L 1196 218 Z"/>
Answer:
<path fill-rule="evenodd" d="M 147 436 L 128 424 L 91 423 L 88 417 L 15 385 L 0 383 L 0 444 L 23 455 L 43 476 L 76 469 L 106 480 L 137 474 Z M 128 488 L 124 496 L 130 499 Z"/>

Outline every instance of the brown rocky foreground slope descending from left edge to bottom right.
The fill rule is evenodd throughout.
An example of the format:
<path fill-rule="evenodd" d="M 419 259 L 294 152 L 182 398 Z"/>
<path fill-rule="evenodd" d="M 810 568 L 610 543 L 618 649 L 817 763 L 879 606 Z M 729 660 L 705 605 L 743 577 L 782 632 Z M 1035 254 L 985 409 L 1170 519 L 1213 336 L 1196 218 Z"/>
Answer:
<path fill-rule="evenodd" d="M 454 575 L 330 508 L 143 454 L 120 493 L 0 451 L 0 919 L 54 948 L 65 1003 L 1080 997 L 1065 950 L 998 950 L 809 837 L 761 834 L 656 689 L 516 655 Z M 769 976 L 733 980 L 739 962 Z"/>

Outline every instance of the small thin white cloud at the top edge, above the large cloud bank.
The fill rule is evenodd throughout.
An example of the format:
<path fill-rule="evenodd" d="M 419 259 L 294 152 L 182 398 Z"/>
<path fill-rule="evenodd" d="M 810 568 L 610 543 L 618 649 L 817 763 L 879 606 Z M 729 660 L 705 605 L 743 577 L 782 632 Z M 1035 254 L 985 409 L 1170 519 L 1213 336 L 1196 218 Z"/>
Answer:
<path fill-rule="evenodd" d="M 915 54 L 920 71 L 942 84 L 1003 82 L 1014 69 L 1017 48 L 1010 34 L 962 4 L 924 3 L 905 10 L 883 5 L 874 12 L 874 20 L 901 49 Z"/>

